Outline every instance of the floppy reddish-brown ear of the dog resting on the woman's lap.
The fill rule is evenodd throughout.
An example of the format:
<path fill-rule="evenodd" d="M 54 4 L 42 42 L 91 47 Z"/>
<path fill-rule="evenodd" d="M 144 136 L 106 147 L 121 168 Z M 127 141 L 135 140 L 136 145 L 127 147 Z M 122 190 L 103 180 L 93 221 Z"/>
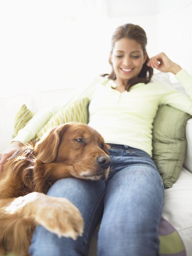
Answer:
<path fill-rule="evenodd" d="M 43 163 L 51 163 L 57 156 L 60 138 L 66 132 L 68 124 L 55 126 L 45 134 L 34 147 L 34 156 Z"/>

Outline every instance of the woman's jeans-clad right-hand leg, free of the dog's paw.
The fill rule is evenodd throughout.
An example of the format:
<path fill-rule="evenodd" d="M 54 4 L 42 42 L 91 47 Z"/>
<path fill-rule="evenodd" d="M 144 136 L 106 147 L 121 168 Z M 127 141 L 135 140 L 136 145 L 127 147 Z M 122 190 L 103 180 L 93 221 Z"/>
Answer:
<path fill-rule="evenodd" d="M 104 196 L 98 255 L 158 255 L 162 179 L 146 153 L 127 147 L 119 154 L 111 156 L 112 177 Z"/>

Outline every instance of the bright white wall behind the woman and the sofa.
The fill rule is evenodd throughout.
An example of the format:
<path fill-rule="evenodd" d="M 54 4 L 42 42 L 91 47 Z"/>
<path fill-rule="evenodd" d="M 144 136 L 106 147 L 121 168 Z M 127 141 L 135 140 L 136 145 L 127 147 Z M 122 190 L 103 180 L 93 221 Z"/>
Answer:
<path fill-rule="evenodd" d="M 0 97 L 77 87 L 108 73 L 111 35 L 124 23 L 145 29 L 150 56 L 165 51 L 191 72 L 191 1 L 157 0 L 158 15 L 121 18 L 110 17 L 110 1 L 0 1 Z"/>

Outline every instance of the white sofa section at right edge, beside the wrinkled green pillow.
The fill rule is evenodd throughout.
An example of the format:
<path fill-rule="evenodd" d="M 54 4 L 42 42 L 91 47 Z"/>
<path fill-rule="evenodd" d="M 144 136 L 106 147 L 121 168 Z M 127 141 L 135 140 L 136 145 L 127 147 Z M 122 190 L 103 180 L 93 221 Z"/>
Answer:
<path fill-rule="evenodd" d="M 192 173 L 192 118 L 186 124 L 187 148 L 185 153 L 184 167 Z"/>

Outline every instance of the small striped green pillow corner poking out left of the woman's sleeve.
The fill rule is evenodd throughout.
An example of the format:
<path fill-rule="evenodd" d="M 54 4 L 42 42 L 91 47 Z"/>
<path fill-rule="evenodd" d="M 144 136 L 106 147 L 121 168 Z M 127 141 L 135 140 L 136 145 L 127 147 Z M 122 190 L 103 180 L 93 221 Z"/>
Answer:
<path fill-rule="evenodd" d="M 19 130 L 23 129 L 23 127 L 29 122 L 32 117 L 33 113 L 27 108 L 25 104 L 23 104 L 18 110 L 14 119 L 14 131 L 12 134 L 12 138 L 17 135 Z"/>

